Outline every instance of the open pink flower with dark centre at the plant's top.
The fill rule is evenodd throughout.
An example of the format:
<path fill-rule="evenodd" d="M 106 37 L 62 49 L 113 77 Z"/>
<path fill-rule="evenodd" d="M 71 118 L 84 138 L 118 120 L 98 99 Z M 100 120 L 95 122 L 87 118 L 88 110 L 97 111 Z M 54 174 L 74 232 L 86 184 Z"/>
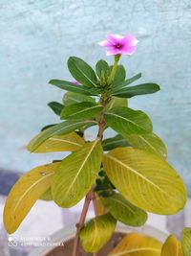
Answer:
<path fill-rule="evenodd" d="M 137 50 L 138 39 L 135 35 L 107 35 L 107 39 L 99 42 L 109 55 L 133 55 Z"/>

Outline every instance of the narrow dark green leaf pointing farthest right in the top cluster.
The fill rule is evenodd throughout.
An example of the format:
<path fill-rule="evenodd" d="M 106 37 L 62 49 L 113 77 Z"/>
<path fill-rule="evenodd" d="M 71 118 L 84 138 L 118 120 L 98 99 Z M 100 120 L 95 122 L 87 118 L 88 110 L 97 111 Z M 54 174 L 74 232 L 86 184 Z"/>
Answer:
<path fill-rule="evenodd" d="M 127 87 L 113 93 L 114 96 L 121 98 L 132 98 L 137 95 L 152 94 L 159 91 L 159 85 L 156 83 L 142 83 L 136 86 Z"/>

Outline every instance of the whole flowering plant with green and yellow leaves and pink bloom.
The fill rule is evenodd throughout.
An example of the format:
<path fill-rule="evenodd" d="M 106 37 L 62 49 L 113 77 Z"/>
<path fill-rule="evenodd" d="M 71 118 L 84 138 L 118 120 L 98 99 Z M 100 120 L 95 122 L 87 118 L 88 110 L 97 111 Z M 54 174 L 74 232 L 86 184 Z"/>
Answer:
<path fill-rule="evenodd" d="M 148 115 L 127 106 L 127 99 L 159 91 L 159 85 L 152 82 L 129 86 L 141 74 L 126 79 L 123 65 L 118 64 L 122 55 L 135 53 L 137 44 L 134 35 L 108 35 L 100 45 L 106 48 L 107 55 L 114 56 L 112 66 L 101 59 L 95 72 L 81 58 L 71 57 L 68 68 L 75 81 L 50 81 L 69 91 L 62 104 L 49 104 L 64 121 L 43 128 L 29 143 L 28 150 L 72 152 L 62 160 L 32 169 L 15 183 L 4 210 L 8 233 L 18 228 L 39 198 L 53 199 L 62 208 L 72 207 L 85 198 L 70 253 L 88 255 L 80 252 L 81 246 L 86 252 L 105 255 L 98 251 L 113 236 L 117 221 L 138 227 L 146 222 L 147 212 L 172 215 L 183 208 L 187 198 L 185 186 L 167 162 L 164 143 L 153 132 Z M 93 141 L 87 141 L 86 130 L 93 126 L 97 127 L 97 134 Z M 117 135 L 105 139 L 107 128 L 114 129 Z M 91 201 L 96 217 L 86 221 Z M 178 247 L 182 253 L 174 236 L 162 247 L 150 236 L 117 234 L 123 238 L 113 251 L 107 251 L 109 255 L 171 256 L 178 255 L 174 250 Z M 190 229 L 183 231 L 184 256 L 191 255 L 186 252 L 189 234 Z M 174 254 L 167 254 L 171 247 Z"/>

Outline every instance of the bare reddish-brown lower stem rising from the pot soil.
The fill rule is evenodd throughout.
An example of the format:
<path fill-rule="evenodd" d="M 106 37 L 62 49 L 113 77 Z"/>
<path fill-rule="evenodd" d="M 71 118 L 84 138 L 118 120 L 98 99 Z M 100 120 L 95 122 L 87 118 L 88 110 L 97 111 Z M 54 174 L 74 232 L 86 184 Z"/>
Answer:
<path fill-rule="evenodd" d="M 81 212 L 81 216 L 79 218 L 78 223 L 76 224 L 76 234 L 74 238 L 74 250 L 73 250 L 73 256 L 78 256 L 79 255 L 79 232 L 84 226 L 84 222 L 86 220 L 87 212 L 90 206 L 91 200 L 94 198 L 94 189 L 95 185 L 92 186 L 91 190 L 89 193 L 86 195 L 83 209 Z"/>

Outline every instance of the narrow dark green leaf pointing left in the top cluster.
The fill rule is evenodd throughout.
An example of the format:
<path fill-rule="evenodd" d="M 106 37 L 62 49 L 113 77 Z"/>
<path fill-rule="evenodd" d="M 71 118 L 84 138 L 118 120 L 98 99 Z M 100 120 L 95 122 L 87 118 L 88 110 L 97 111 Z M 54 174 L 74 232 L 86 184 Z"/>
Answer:
<path fill-rule="evenodd" d="M 100 93 L 100 89 L 95 89 L 95 88 L 92 89 L 83 85 L 76 85 L 70 81 L 51 80 L 49 81 L 49 83 L 55 85 L 60 89 L 75 92 L 75 93 L 80 93 L 84 95 L 98 95 Z"/>

